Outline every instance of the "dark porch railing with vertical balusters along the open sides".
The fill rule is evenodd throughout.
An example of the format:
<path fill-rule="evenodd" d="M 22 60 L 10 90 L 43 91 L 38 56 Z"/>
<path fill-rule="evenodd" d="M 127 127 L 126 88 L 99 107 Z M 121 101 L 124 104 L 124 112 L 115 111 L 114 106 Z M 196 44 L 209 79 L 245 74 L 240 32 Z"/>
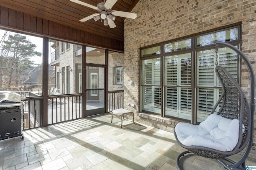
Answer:
<path fill-rule="evenodd" d="M 16 89 L 15 89 L 16 90 Z M 26 92 L 22 99 L 22 129 L 43 126 L 43 96 Z M 124 107 L 124 90 L 108 92 L 108 111 Z M 48 125 L 82 118 L 82 94 L 48 96 Z"/>

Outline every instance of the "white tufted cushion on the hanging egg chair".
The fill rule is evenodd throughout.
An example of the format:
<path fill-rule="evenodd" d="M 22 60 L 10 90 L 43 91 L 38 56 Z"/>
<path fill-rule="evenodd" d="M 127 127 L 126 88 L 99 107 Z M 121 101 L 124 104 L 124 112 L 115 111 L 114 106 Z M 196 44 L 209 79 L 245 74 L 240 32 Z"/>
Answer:
<path fill-rule="evenodd" d="M 181 122 L 175 126 L 174 131 L 180 143 L 185 146 L 231 151 L 238 142 L 239 121 L 210 114 L 200 125 Z"/>

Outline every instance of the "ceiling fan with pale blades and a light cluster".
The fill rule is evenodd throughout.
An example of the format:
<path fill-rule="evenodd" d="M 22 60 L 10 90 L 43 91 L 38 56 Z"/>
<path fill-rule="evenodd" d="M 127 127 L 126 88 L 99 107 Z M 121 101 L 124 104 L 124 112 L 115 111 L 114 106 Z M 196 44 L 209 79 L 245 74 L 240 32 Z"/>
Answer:
<path fill-rule="evenodd" d="M 97 6 L 92 6 L 80 0 L 70 0 L 70 1 L 83 6 L 87 6 L 89 8 L 92 8 L 98 11 L 98 13 L 96 14 L 92 14 L 86 18 L 81 19 L 80 20 L 81 22 L 88 21 L 92 18 L 94 19 L 94 21 L 98 21 L 102 19 L 104 21 L 104 25 L 109 25 L 110 28 L 114 28 L 116 27 L 116 24 L 114 23 L 116 16 L 131 18 L 131 19 L 135 19 L 137 17 L 137 14 L 134 14 L 134 13 L 112 10 L 112 7 L 117 2 L 117 0 L 106 0 L 106 2 L 104 0 L 104 2 L 98 3 Z"/>

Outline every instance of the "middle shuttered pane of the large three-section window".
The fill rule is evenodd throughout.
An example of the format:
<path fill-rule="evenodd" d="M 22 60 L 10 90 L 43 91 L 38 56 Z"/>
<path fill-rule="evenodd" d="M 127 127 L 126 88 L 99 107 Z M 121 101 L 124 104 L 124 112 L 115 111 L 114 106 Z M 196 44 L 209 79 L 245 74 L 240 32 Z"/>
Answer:
<path fill-rule="evenodd" d="M 191 118 L 191 53 L 164 57 L 165 114 Z M 173 86 L 173 87 L 172 87 Z M 185 88 L 185 86 L 188 86 Z"/>

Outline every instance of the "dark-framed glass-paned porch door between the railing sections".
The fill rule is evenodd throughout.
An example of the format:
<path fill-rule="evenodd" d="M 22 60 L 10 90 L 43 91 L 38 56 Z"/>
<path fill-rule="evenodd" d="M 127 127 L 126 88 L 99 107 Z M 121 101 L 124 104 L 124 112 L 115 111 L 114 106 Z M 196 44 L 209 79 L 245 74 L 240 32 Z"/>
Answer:
<path fill-rule="evenodd" d="M 86 116 L 105 113 L 105 67 L 86 67 Z"/>

